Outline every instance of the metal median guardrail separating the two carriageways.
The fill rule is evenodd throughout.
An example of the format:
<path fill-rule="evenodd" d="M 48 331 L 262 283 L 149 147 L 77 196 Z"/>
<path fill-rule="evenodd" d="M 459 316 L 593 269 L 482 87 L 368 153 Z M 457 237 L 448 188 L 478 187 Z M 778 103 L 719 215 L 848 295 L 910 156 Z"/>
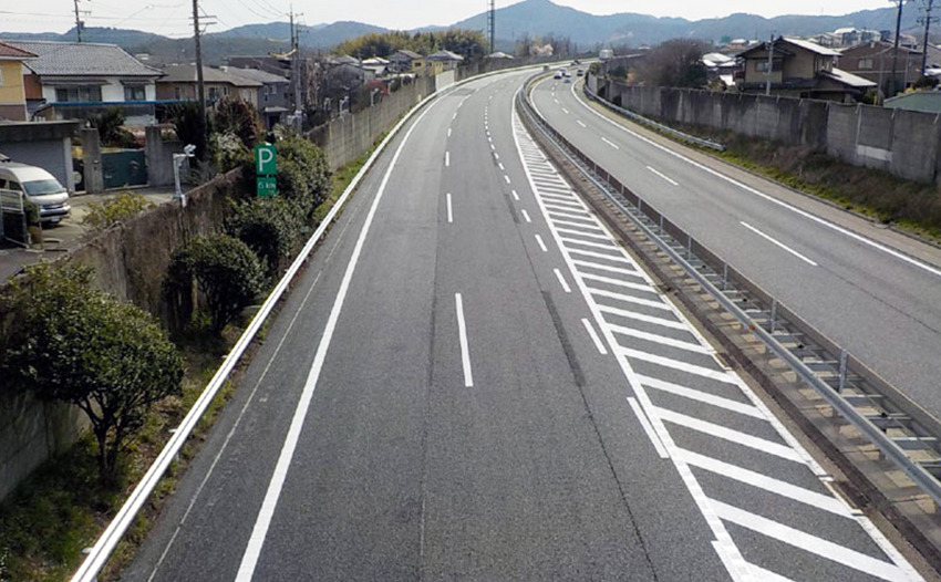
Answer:
<path fill-rule="evenodd" d="M 682 267 L 689 277 L 754 333 L 772 353 L 787 363 L 834 410 L 928 493 L 935 505 L 941 505 L 941 481 L 932 472 L 941 470 L 941 453 L 938 450 L 941 423 L 665 218 L 556 131 L 529 103 L 529 91 L 538 76 L 530 79 L 517 95 L 520 110 L 536 126 L 649 240 Z M 755 306 L 743 308 L 745 294 L 751 300 L 747 304 Z M 765 309 L 756 309 L 762 305 Z M 797 331 L 787 331 L 788 328 Z M 798 335 L 805 339 L 796 344 L 799 350 L 785 345 L 793 343 L 790 340 Z M 814 344 L 816 347 L 813 347 Z M 878 413 L 866 414 L 857 409 L 842 396 L 849 392 L 854 393 L 854 399 L 858 395 L 859 401 Z M 902 434 L 889 436 L 889 429 Z M 913 460 L 907 454 L 910 450 L 929 455 L 926 459 Z"/>

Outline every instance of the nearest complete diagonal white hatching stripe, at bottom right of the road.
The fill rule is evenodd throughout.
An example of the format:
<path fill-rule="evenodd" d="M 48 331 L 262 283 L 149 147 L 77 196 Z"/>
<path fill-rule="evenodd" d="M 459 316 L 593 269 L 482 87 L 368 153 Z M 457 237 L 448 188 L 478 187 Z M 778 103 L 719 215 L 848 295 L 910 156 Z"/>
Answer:
<path fill-rule="evenodd" d="M 883 562 L 882 560 L 857 552 L 856 550 L 850 550 L 849 548 L 844 548 L 829 540 L 811 536 L 810 533 L 751 513 L 737 507 L 732 507 L 722 501 L 716 501 L 715 499 L 710 499 L 709 502 L 721 519 L 756 531 L 762 536 L 774 538 L 788 545 L 799 548 L 820 558 L 831 560 L 847 568 L 865 572 L 871 576 L 881 578 L 889 582 L 909 582 L 911 580 L 899 567 L 892 563 Z"/>

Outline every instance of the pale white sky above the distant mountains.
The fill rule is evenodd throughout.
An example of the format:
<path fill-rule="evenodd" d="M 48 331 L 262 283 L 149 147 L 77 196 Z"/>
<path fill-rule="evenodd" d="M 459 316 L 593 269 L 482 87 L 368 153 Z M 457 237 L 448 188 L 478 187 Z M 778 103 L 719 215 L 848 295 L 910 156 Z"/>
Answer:
<path fill-rule="evenodd" d="M 554 0 L 592 14 L 640 12 L 655 17 L 689 20 L 751 12 L 764 17 L 780 14 L 846 14 L 891 6 L 887 0 L 673 0 L 630 2 L 628 0 Z M 287 20 L 290 0 L 199 0 L 204 14 L 215 15 L 209 31 L 242 24 Z M 497 0 L 497 8 L 515 1 Z M 133 28 L 167 37 L 192 34 L 189 0 L 79 0 L 89 27 Z M 293 0 L 307 24 L 355 20 L 385 28 L 414 29 L 458 22 L 483 12 L 487 0 Z M 65 32 L 74 25 L 73 0 L 0 0 L 0 32 Z"/>

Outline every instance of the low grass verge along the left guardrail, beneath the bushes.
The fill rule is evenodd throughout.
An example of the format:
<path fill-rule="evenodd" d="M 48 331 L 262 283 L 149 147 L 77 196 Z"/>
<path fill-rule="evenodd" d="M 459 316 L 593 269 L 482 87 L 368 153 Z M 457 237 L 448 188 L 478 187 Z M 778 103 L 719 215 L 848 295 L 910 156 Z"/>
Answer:
<path fill-rule="evenodd" d="M 383 134 L 368 152 L 333 173 L 330 197 L 316 210 L 318 224 L 337 204 L 384 137 Z M 259 331 L 254 349 L 263 342 L 265 331 L 266 328 Z M 69 451 L 44 463 L 20 484 L 0 506 L 0 582 L 63 582 L 70 579 L 83 559 L 82 550 L 95 542 L 147 471 L 169 438 L 169 430 L 179 425 L 203 393 L 240 330 L 229 329 L 228 332 L 223 340 L 194 334 L 180 341 L 180 353 L 186 361 L 183 395 L 167 398 L 154 407 L 122 460 L 115 486 L 103 487 L 99 482 L 96 444 L 91 435 L 80 439 Z M 223 406 L 231 398 L 239 371 L 251 361 L 254 349 L 249 349 L 232 377 L 216 396 L 180 451 L 179 459 L 170 466 L 99 580 L 116 580 L 133 559 Z"/>

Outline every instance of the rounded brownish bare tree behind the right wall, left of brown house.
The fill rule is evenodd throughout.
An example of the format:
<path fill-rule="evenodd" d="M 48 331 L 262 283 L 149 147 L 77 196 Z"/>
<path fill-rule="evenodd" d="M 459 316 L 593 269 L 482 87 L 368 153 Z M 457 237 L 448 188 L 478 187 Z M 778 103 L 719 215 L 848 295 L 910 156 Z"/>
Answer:
<path fill-rule="evenodd" d="M 703 43 L 673 39 L 653 48 L 638 65 L 638 81 L 649 86 L 693 87 L 706 84 Z"/>

